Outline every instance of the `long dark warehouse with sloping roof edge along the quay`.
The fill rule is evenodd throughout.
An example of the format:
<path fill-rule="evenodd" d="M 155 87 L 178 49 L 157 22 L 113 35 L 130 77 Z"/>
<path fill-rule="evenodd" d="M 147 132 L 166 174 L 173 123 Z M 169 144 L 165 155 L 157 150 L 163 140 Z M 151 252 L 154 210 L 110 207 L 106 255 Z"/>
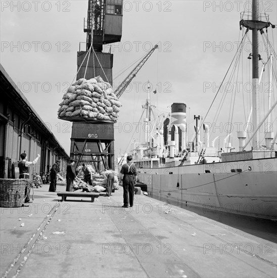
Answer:
<path fill-rule="evenodd" d="M 32 161 L 30 175 L 48 172 L 57 159 L 65 172 L 69 156 L 0 64 L 0 178 L 17 177 L 20 154 Z M 14 170 L 15 169 L 15 170 Z"/>

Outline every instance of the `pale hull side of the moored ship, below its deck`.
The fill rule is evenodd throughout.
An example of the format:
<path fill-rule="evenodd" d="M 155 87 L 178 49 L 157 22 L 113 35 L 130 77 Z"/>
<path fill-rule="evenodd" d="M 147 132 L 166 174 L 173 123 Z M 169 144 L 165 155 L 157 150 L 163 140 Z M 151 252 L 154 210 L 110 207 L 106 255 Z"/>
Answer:
<path fill-rule="evenodd" d="M 277 219 L 277 158 L 138 169 L 150 197 Z"/>

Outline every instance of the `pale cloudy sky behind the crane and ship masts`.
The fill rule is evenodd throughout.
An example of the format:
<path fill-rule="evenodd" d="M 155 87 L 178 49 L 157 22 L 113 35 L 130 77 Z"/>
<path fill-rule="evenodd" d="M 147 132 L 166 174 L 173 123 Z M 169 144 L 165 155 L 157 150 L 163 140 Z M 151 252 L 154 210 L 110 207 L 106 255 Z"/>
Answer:
<path fill-rule="evenodd" d="M 58 119 L 57 111 L 64 92 L 76 75 L 77 52 L 79 48 L 85 50 L 83 22 L 87 15 L 87 1 L 1 0 L 0 4 L 0 62 L 69 154 L 72 123 Z M 260 12 L 268 14 L 272 24 L 277 24 L 276 6 L 275 0 L 262 1 L 260 5 Z M 187 105 L 190 141 L 195 124 L 193 116 L 205 117 L 236 54 L 242 38 L 240 13 L 244 11 L 251 12 L 250 1 L 124 1 L 121 42 L 104 45 L 104 52 L 111 48 L 114 54 L 114 87 L 130 73 L 135 61 L 142 59 L 155 44 L 159 48 L 119 99 L 122 107 L 114 126 L 115 156 L 128 152 L 133 139 L 142 139 L 135 123 L 140 119 L 142 104 L 147 99 L 148 81 L 151 103 L 161 118 L 168 115 L 172 103 Z M 268 36 L 274 39 L 275 52 L 276 30 L 268 28 Z M 244 119 L 250 111 L 251 93 L 249 84 L 245 83 L 246 78 L 251 77 L 251 60 L 247 59 L 251 53 L 250 38 L 251 35 L 246 40 L 248 43 L 243 48 L 243 59 L 239 64 L 244 70 L 230 82 L 233 86 L 235 82 L 239 84 L 236 104 L 232 103 L 235 94 L 229 89 L 225 97 L 220 91 L 205 119 L 213 126 L 210 140 L 220 136 L 220 144 L 232 118 L 232 144 L 237 145 L 237 127 L 244 126 Z M 260 54 L 266 61 L 263 44 L 260 44 Z M 276 73 L 276 64 L 274 66 Z M 240 80 L 237 78 L 241 76 L 244 76 L 242 81 L 234 81 Z M 265 75 L 263 78 L 262 86 L 266 90 L 268 79 Z M 227 79 L 223 82 L 225 87 L 229 84 L 226 82 Z M 153 93 L 155 89 L 157 94 Z M 276 89 L 273 95 L 271 103 L 276 99 Z M 227 106 L 222 106 L 217 115 L 221 98 L 225 99 Z M 268 110 L 265 99 L 261 97 L 262 114 Z M 216 118 L 218 122 L 215 124 Z M 276 132 L 276 109 L 272 118 Z M 237 124 L 233 124 L 235 122 Z"/>

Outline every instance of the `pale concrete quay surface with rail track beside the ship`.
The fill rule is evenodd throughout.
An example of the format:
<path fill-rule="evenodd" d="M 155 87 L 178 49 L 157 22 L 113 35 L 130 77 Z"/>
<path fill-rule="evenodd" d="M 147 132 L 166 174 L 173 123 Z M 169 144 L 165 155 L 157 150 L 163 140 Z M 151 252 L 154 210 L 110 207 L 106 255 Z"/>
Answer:
<path fill-rule="evenodd" d="M 121 187 L 94 203 L 48 189 L 0 208 L 1 277 L 276 277 L 276 241 L 145 195 L 121 208 Z"/>

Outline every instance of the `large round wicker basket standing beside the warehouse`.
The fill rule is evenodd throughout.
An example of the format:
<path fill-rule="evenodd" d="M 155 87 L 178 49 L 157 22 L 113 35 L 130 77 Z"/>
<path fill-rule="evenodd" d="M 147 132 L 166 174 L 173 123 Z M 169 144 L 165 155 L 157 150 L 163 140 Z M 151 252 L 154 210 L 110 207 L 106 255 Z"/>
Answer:
<path fill-rule="evenodd" d="M 25 199 L 25 188 L 32 181 L 24 178 L 0 178 L 0 207 L 21 207 Z"/>

